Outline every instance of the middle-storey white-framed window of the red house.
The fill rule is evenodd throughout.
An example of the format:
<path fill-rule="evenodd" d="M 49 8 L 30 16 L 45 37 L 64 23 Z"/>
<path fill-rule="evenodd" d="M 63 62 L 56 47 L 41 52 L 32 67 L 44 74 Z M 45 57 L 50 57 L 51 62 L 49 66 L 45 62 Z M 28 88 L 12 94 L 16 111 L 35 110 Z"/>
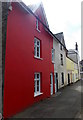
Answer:
<path fill-rule="evenodd" d="M 40 58 L 40 40 L 34 39 L 34 56 Z"/>

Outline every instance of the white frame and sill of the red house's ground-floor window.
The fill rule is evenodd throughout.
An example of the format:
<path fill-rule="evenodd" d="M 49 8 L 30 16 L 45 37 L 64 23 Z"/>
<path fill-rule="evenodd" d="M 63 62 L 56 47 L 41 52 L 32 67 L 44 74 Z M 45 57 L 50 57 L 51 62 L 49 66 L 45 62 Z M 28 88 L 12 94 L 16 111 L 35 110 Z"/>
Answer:
<path fill-rule="evenodd" d="M 37 78 L 37 74 L 39 78 Z M 39 81 L 39 91 L 37 91 L 37 81 Z M 40 95 L 40 73 L 34 73 L 34 96 Z"/>

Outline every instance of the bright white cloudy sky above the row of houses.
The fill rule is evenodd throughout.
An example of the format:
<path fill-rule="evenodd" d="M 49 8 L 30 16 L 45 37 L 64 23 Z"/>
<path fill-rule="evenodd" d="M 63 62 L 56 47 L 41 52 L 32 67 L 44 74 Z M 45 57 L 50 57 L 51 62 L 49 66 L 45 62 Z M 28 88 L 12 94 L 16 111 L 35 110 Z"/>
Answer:
<path fill-rule="evenodd" d="M 26 5 L 40 0 L 22 0 Z M 64 33 L 67 49 L 75 49 L 78 43 L 81 60 L 81 1 L 82 0 L 41 0 L 50 30 Z"/>

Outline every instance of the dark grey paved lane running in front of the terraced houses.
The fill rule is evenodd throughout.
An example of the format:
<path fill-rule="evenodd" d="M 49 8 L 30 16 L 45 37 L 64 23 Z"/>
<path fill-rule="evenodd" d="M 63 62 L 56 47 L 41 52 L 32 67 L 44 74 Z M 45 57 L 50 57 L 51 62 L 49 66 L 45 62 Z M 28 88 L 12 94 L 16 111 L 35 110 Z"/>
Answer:
<path fill-rule="evenodd" d="M 82 80 L 61 88 L 50 98 L 35 103 L 12 118 L 81 118 L 81 85 Z"/>

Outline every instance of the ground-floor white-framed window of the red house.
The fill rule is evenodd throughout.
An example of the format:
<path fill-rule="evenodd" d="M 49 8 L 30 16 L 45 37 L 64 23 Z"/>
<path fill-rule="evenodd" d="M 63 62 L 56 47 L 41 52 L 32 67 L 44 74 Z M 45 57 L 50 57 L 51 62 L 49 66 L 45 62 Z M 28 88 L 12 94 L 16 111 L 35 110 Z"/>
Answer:
<path fill-rule="evenodd" d="M 40 73 L 34 74 L 34 95 L 40 93 Z"/>

